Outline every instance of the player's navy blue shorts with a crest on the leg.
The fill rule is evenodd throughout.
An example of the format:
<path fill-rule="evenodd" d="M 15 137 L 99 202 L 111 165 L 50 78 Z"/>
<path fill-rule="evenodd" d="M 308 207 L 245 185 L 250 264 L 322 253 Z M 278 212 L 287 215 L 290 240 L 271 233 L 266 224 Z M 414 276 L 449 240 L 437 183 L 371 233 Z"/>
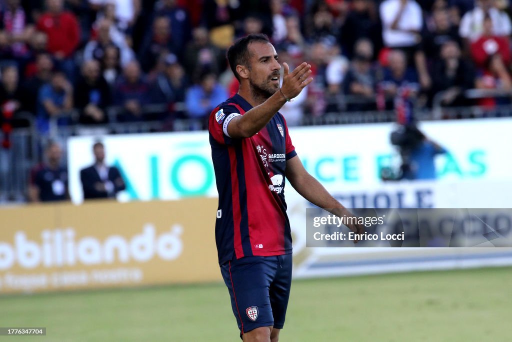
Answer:
<path fill-rule="evenodd" d="M 291 269 L 292 254 L 246 256 L 221 266 L 240 335 L 260 327 L 283 329 Z"/>

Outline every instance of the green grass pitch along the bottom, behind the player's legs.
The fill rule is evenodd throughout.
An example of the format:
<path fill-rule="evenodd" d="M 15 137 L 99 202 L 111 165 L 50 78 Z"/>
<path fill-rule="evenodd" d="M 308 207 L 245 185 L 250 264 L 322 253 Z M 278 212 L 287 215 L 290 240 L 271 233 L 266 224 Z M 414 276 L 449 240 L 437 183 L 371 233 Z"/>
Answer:
<path fill-rule="evenodd" d="M 512 268 L 294 280 L 281 341 L 512 340 Z M 0 341 L 240 341 L 223 284 L 0 296 Z"/>

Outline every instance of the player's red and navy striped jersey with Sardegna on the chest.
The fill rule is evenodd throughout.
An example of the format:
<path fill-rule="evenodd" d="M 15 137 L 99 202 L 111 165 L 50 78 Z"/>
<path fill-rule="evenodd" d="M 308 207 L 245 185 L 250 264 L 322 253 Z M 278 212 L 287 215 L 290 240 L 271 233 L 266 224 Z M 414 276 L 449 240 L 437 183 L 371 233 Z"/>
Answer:
<path fill-rule="evenodd" d="M 219 208 L 215 238 L 219 263 L 292 252 L 285 202 L 286 160 L 296 155 L 283 115 L 249 138 L 231 138 L 227 125 L 252 106 L 240 95 L 211 112 L 208 122 Z"/>

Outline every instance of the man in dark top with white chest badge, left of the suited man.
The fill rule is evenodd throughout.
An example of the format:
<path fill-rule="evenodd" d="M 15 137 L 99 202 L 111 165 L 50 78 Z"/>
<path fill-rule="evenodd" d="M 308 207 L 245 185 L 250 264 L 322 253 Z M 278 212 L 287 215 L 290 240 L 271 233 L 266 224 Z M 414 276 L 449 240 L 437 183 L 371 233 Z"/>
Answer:
<path fill-rule="evenodd" d="M 61 165 L 62 149 L 50 142 L 45 151 L 45 162 L 30 172 L 28 197 L 30 202 L 68 200 L 68 171 Z"/>

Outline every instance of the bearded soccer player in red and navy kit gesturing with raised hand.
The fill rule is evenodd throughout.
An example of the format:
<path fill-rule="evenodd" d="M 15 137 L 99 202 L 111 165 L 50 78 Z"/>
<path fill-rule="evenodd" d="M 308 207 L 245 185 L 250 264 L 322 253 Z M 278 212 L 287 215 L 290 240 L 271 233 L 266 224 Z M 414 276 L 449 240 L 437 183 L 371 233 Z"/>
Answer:
<path fill-rule="evenodd" d="M 239 39 L 227 58 L 240 90 L 214 109 L 208 122 L 219 192 L 219 264 L 242 339 L 276 342 L 292 269 L 285 177 L 316 206 L 332 208 L 338 216 L 351 214 L 304 169 L 278 112 L 311 83 L 311 66 L 303 63 L 290 72 L 283 63 L 280 88 L 278 55 L 263 34 Z"/>

